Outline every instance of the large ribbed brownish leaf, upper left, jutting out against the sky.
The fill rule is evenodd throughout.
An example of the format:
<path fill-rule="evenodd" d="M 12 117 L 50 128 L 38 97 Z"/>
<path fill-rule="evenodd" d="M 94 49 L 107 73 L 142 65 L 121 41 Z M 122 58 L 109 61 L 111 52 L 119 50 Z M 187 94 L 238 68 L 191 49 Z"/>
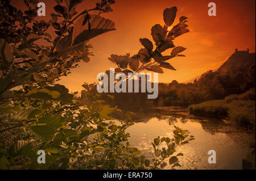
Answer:
<path fill-rule="evenodd" d="M 92 39 L 102 33 L 115 30 L 115 24 L 112 20 L 98 15 L 90 15 L 90 19 L 83 25 L 85 16 L 81 16 L 75 23 L 72 35 L 73 45 Z M 89 24 L 91 30 L 89 30 Z"/>

